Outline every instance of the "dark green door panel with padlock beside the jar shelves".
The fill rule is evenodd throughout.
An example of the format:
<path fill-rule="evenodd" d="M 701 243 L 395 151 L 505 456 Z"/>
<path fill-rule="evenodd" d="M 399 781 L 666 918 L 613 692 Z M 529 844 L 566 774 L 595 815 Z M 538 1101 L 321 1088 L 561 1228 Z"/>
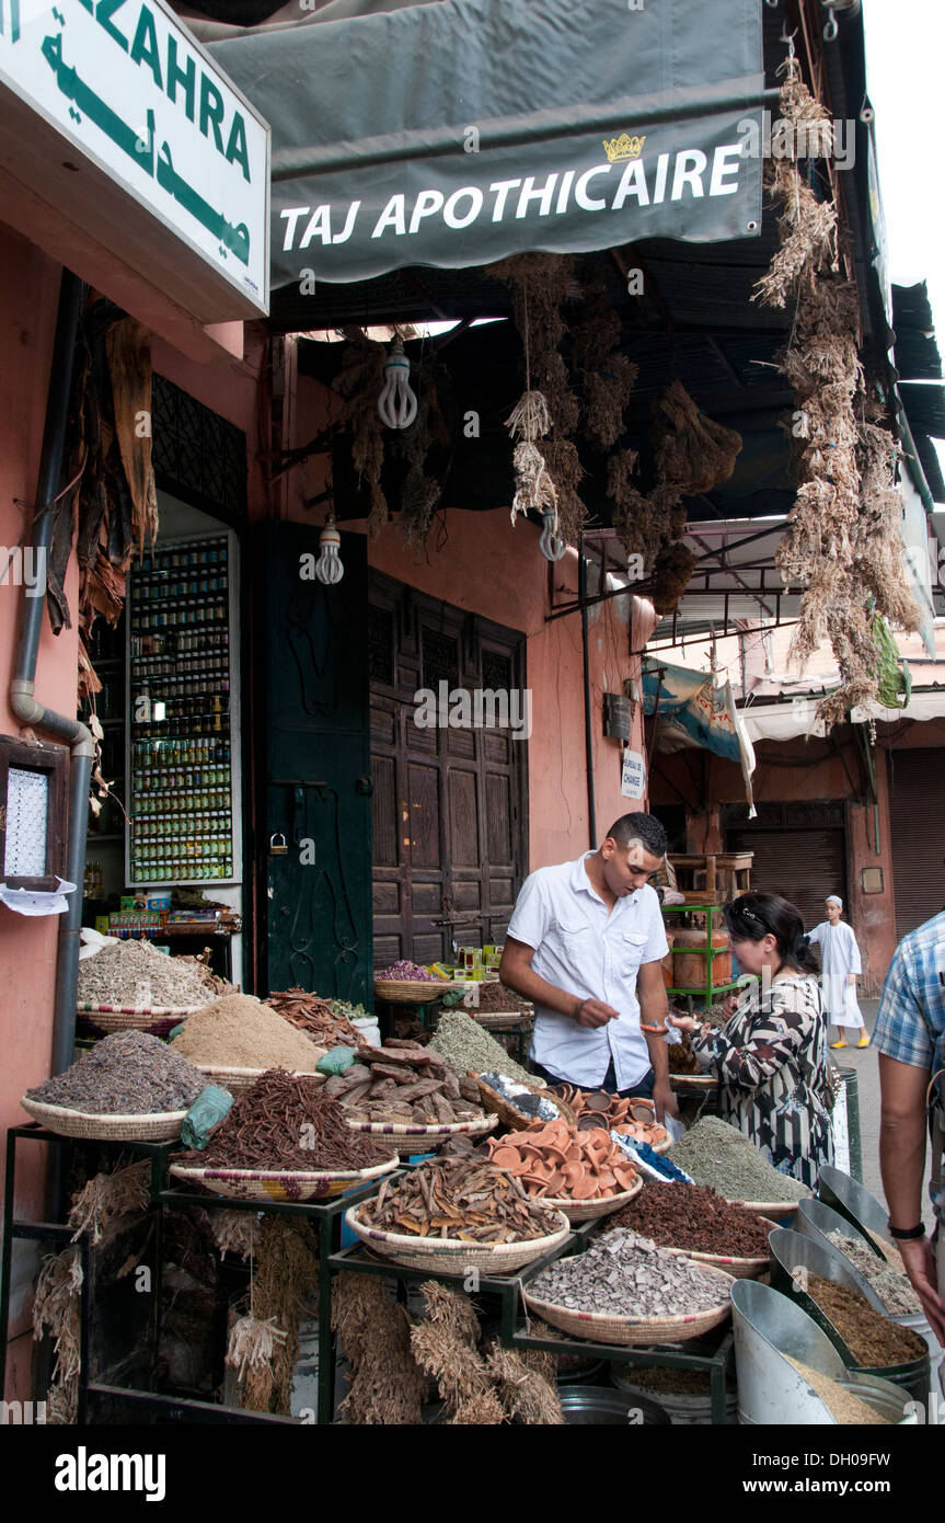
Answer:
<path fill-rule="evenodd" d="M 336 586 L 303 577 L 310 556 L 317 528 L 266 525 L 260 961 L 268 990 L 298 984 L 370 1008 L 367 545 L 341 536 Z"/>

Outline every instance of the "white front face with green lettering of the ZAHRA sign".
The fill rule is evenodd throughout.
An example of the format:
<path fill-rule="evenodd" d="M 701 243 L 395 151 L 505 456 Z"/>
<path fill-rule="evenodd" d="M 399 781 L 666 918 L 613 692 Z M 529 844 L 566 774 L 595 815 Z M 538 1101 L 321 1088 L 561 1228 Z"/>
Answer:
<path fill-rule="evenodd" d="M 269 128 L 164 0 L 0 0 L 6 91 L 268 311 Z"/>

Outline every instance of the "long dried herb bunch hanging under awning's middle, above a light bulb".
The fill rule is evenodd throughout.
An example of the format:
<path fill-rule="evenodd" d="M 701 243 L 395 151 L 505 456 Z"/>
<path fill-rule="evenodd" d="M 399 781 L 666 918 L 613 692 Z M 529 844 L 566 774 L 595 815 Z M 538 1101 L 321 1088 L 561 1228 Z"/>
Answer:
<path fill-rule="evenodd" d="M 552 535 L 577 544 L 587 518 L 578 492 L 584 472 L 574 443 L 581 405 L 558 350 L 566 332 L 562 303 L 581 295 L 574 260 L 560 254 L 516 254 L 490 265 L 488 273 L 511 288 L 514 324 L 525 352 L 525 393 L 507 419 L 517 440 L 511 519 L 530 509 L 551 513 Z"/>

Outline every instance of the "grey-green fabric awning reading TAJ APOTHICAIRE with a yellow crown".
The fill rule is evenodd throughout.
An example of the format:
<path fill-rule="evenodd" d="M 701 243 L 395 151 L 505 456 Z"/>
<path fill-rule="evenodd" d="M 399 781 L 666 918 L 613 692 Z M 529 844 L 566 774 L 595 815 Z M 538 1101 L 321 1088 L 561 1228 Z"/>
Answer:
<path fill-rule="evenodd" d="M 274 288 L 761 228 L 761 0 L 277 17 L 190 23 L 272 126 Z"/>

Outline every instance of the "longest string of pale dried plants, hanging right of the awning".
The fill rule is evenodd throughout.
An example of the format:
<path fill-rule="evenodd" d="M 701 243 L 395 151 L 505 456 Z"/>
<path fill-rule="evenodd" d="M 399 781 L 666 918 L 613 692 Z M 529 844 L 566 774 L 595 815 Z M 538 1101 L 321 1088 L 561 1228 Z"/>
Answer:
<path fill-rule="evenodd" d="M 793 44 L 782 65 L 779 136 L 770 189 L 782 203 L 779 250 L 753 300 L 785 308 L 796 300 L 791 338 L 779 356 L 797 399 L 793 434 L 802 484 L 778 548 L 787 585 L 805 592 L 790 658 L 803 664 L 829 637 L 840 687 L 817 705 L 831 728 L 880 696 L 875 620 L 918 627 L 902 568 L 896 445 L 884 408 L 860 364 L 858 295 L 837 259 L 837 210 L 819 201 L 797 168 L 797 148 L 832 149 L 825 108 L 800 79 Z"/>

